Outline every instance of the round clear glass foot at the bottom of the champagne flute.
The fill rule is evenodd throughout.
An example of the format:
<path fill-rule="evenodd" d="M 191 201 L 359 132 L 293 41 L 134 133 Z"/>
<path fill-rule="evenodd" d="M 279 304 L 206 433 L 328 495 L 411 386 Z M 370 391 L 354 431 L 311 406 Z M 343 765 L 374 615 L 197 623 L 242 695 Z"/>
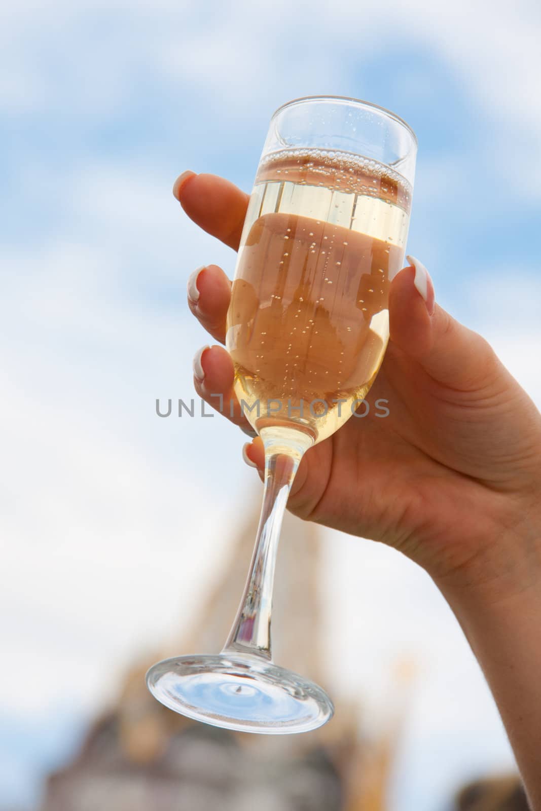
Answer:
<path fill-rule="evenodd" d="M 238 732 L 309 732 L 333 716 L 333 702 L 314 682 L 253 654 L 179 656 L 155 664 L 148 689 L 188 718 Z"/>

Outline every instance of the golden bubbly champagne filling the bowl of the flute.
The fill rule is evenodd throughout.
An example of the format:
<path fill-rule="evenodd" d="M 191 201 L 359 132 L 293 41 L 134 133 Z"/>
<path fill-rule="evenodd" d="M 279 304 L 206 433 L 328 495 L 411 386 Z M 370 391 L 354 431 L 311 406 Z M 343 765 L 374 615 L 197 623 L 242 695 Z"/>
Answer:
<path fill-rule="evenodd" d="M 261 162 L 227 320 L 235 393 L 258 431 L 321 441 L 366 396 L 389 340 L 410 200 L 400 174 L 346 152 Z"/>

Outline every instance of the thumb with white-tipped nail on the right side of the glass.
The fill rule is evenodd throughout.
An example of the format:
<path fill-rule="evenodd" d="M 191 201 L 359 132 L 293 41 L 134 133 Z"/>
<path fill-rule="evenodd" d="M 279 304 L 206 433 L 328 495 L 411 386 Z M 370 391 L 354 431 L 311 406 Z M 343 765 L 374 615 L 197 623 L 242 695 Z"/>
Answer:
<path fill-rule="evenodd" d="M 480 388 L 496 372 L 492 347 L 435 303 L 427 268 L 414 256 L 407 260 L 410 266 L 394 277 L 389 291 L 391 341 L 433 380 L 464 391 Z"/>

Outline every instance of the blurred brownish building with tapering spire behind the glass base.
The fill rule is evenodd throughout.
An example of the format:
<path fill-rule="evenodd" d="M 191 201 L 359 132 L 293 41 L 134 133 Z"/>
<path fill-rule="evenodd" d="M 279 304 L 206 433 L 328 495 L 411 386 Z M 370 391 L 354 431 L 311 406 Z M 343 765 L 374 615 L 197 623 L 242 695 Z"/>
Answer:
<path fill-rule="evenodd" d="M 383 811 L 393 736 L 363 740 L 359 706 L 333 694 L 327 726 L 260 736 L 195 723 L 148 693 L 157 659 L 221 650 L 243 592 L 256 518 L 240 532 L 230 564 L 194 617 L 191 633 L 127 674 L 118 704 L 97 719 L 75 760 L 48 780 L 42 811 Z M 289 514 L 276 573 L 273 654 L 325 684 L 320 653 L 316 526 Z M 328 664 L 328 663 L 327 663 Z M 332 665 L 331 665 L 332 667 Z"/>

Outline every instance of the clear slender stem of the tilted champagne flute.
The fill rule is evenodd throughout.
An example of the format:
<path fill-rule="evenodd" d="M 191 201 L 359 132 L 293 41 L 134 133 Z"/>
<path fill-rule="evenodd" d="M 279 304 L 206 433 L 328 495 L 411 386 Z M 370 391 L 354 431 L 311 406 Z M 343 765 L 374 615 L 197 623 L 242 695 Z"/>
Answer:
<path fill-rule="evenodd" d="M 263 428 L 260 436 L 265 449 L 263 506 L 243 599 L 222 653 L 271 659 L 274 567 L 281 522 L 299 462 L 313 440 L 289 427 Z"/>

